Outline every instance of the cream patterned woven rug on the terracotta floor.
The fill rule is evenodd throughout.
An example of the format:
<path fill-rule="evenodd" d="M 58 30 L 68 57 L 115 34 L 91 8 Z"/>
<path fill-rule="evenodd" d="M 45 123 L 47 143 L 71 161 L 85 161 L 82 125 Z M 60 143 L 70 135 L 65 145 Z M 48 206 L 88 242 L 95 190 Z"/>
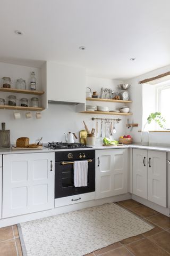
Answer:
<path fill-rule="evenodd" d="M 111 203 L 18 225 L 23 256 L 82 256 L 151 230 Z"/>

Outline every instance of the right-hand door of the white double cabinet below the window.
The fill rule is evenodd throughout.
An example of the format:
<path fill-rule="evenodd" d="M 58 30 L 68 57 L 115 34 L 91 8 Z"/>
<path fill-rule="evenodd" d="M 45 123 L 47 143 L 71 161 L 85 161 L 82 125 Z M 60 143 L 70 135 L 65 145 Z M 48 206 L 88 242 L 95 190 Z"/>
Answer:
<path fill-rule="evenodd" d="M 148 150 L 148 200 L 166 207 L 166 153 Z"/>

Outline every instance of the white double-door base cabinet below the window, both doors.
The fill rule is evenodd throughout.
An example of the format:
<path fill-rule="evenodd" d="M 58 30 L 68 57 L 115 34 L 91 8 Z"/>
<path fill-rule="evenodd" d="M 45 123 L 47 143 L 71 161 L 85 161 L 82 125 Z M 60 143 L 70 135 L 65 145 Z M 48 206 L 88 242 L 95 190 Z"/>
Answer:
<path fill-rule="evenodd" d="M 133 194 L 167 205 L 166 153 L 133 149 Z"/>

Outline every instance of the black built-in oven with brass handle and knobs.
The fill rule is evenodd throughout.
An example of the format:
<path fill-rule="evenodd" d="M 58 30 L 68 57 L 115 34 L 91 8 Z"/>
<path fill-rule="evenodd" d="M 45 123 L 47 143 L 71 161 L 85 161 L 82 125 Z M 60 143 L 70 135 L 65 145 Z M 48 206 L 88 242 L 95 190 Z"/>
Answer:
<path fill-rule="evenodd" d="M 88 186 L 74 187 L 74 161 L 88 161 Z M 95 191 L 95 150 L 55 152 L 55 198 Z"/>

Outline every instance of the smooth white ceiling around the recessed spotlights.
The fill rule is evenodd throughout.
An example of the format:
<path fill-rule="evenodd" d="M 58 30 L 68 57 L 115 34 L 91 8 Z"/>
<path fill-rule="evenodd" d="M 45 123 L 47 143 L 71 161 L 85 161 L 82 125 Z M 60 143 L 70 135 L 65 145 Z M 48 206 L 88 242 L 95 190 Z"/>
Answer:
<path fill-rule="evenodd" d="M 117 79 L 170 63 L 169 0 L 0 2 L 0 61 L 40 66 L 55 60 Z"/>

